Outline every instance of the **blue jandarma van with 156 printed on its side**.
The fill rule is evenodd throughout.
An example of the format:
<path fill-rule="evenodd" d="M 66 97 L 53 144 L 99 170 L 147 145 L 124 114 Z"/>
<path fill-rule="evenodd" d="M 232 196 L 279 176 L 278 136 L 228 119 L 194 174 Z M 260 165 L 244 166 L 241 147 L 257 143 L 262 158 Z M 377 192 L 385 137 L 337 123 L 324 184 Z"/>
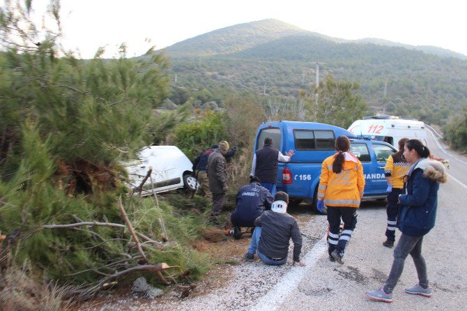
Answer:
<path fill-rule="evenodd" d="M 316 190 L 321 163 L 335 153 L 335 139 L 345 135 L 351 139 L 351 153 L 362 162 L 365 174 L 365 197 L 386 195 L 385 162 L 397 150 L 388 143 L 357 139 L 352 132 L 323 123 L 274 121 L 262 123 L 257 131 L 254 150 L 263 146 L 264 139 L 273 139 L 273 146 L 283 154 L 292 149 L 290 162 L 279 162 L 277 191 L 289 194 L 290 202 L 312 202 L 316 209 Z"/>

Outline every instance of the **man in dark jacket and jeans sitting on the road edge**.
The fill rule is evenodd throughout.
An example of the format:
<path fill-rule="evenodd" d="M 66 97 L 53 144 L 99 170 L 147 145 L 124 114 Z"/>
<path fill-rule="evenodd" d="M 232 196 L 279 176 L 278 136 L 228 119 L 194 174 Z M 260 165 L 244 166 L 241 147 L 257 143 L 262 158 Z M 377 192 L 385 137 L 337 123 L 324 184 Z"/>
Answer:
<path fill-rule="evenodd" d="M 245 254 L 247 261 L 254 260 L 254 254 L 258 255 L 265 264 L 280 266 L 287 261 L 289 254 L 289 242 L 293 241 L 293 264 L 300 261 L 302 251 L 302 235 L 298 229 L 297 220 L 287 213 L 289 195 L 279 191 L 274 196 L 275 201 L 270 211 L 265 211 L 256 220 L 250 248 Z"/>

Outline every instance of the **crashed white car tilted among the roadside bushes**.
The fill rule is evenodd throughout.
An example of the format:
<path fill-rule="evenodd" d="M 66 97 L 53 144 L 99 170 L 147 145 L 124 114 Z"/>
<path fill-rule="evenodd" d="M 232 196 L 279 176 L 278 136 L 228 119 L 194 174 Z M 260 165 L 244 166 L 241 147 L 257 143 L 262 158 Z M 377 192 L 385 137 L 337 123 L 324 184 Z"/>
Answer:
<path fill-rule="evenodd" d="M 153 168 L 151 179 L 144 183 L 141 195 L 164 192 L 185 187 L 194 191 L 197 180 L 192 176 L 192 162 L 176 146 L 148 146 L 137 154 L 137 160 L 124 163 L 129 185 L 133 190 L 144 180 L 149 167 Z"/>

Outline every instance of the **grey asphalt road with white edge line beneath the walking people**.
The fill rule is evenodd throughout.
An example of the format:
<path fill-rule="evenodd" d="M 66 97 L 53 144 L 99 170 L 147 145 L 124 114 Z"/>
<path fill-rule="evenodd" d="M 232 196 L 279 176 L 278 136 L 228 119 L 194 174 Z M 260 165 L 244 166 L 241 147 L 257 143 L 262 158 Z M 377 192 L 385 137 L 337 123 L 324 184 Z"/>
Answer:
<path fill-rule="evenodd" d="M 423 242 L 431 298 L 404 293 L 418 283 L 411 257 L 393 293 L 393 303 L 376 303 L 365 296 L 368 289 L 381 287 L 390 271 L 392 250 L 385 248 L 385 206 L 365 202 L 349 243 L 344 265 L 330 262 L 324 239 L 305 255 L 307 266 L 293 268 L 257 301 L 252 310 L 467 310 L 467 158 L 438 145 L 429 133 L 429 149 L 449 159 L 450 180 L 438 192 L 438 215 L 434 229 Z M 321 234 L 325 233 L 326 220 Z M 314 234 L 319 234 L 315 232 Z M 400 232 L 397 232 L 397 238 Z M 396 240 L 397 242 L 397 240 Z"/>

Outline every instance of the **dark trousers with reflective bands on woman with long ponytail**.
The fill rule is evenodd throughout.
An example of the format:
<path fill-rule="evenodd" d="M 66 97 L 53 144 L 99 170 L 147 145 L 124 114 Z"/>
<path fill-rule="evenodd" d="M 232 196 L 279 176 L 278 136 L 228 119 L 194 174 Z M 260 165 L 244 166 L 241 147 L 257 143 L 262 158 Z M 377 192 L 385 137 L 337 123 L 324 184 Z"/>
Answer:
<path fill-rule="evenodd" d="M 344 222 L 342 232 L 339 232 L 341 220 Z M 328 252 L 331 253 L 337 248 L 339 252 L 344 252 L 347 243 L 353 234 L 353 229 L 357 225 L 357 208 L 349 206 L 328 206 Z"/>

